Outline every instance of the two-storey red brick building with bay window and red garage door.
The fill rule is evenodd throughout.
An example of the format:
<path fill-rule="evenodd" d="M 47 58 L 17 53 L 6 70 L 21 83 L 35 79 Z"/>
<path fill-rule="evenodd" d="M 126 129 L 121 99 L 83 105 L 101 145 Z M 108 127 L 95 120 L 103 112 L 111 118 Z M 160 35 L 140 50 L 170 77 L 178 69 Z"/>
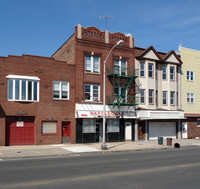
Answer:
<path fill-rule="evenodd" d="M 0 145 L 75 142 L 73 65 L 8 56 L 0 57 L 0 73 Z"/>

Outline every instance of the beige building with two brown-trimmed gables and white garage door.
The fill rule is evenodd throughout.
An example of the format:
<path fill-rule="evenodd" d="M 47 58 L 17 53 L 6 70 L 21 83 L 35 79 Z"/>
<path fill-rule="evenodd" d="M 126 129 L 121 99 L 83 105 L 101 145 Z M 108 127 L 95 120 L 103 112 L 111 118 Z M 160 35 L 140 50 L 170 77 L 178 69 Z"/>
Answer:
<path fill-rule="evenodd" d="M 181 138 L 180 78 L 182 61 L 174 51 L 157 52 L 152 46 L 135 48 L 139 70 L 138 138 Z"/>

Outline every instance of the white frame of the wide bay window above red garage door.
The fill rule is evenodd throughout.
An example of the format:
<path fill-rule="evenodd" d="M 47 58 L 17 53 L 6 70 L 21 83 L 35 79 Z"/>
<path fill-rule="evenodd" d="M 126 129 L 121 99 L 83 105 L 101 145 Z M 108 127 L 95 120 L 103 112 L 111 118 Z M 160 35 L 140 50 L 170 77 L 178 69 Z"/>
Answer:
<path fill-rule="evenodd" d="M 39 102 L 39 81 L 40 79 L 38 77 L 32 77 L 32 76 L 21 76 L 21 75 L 8 75 L 6 76 L 7 79 L 7 99 L 8 101 L 20 101 L 20 102 Z M 10 81 L 12 81 L 12 97 L 10 98 Z M 16 83 L 19 81 L 19 92 L 18 96 L 16 97 Z M 23 99 L 22 94 L 22 83 L 25 82 L 25 99 Z M 31 83 L 31 96 L 29 96 L 29 83 Z M 35 84 L 36 84 L 36 90 L 37 93 L 35 94 Z M 36 99 L 35 96 L 36 95 Z M 29 99 L 29 97 L 31 99 Z"/>

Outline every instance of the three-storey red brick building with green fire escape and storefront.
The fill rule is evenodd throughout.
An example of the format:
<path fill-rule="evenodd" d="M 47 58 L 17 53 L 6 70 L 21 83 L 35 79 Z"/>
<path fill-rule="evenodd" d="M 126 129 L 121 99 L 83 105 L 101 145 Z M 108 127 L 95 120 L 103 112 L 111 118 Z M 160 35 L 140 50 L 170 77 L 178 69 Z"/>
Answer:
<path fill-rule="evenodd" d="M 95 27 L 75 27 L 53 58 L 76 67 L 76 142 L 102 141 L 103 63 L 106 62 L 106 140 L 134 140 L 135 55 L 134 38 L 122 33 L 102 32 Z"/>

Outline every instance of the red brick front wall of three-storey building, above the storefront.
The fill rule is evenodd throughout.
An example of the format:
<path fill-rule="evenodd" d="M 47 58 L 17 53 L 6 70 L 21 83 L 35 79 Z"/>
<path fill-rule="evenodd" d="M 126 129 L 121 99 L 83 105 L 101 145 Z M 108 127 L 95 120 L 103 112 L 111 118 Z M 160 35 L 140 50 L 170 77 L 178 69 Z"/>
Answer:
<path fill-rule="evenodd" d="M 100 85 L 100 102 L 103 101 L 103 64 L 106 59 L 110 49 L 113 45 L 107 44 L 98 44 L 93 41 L 81 41 L 77 39 L 76 46 L 76 97 L 80 102 L 84 99 L 84 84 L 99 84 Z M 91 55 L 94 52 L 94 55 L 100 56 L 100 74 L 86 73 L 84 70 L 84 56 Z M 127 47 L 116 47 L 111 55 L 109 56 L 106 67 L 113 65 L 114 58 L 127 59 L 127 67 L 134 68 L 135 58 L 134 50 Z M 107 78 L 106 70 L 106 95 L 112 95 L 113 86 Z"/>

